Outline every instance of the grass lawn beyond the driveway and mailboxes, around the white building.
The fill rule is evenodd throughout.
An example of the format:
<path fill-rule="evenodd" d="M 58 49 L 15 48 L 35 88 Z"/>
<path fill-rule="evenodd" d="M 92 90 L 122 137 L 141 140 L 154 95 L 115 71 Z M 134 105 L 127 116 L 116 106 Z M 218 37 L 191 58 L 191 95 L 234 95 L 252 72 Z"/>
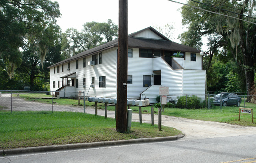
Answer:
<path fill-rule="evenodd" d="M 24 93 L 19 94 L 20 97 L 27 100 L 38 101 L 41 103 L 52 103 L 51 99 L 30 99 L 31 97 L 45 97 L 47 95 L 42 93 Z M 51 97 L 51 95 L 48 95 Z M 57 105 L 78 105 L 78 100 L 75 99 L 54 99 Z M 83 104 L 83 101 L 80 101 Z M 92 106 L 95 103 L 86 101 L 87 106 Z M 83 107 L 83 106 L 81 106 Z M 244 107 L 244 99 L 242 99 L 241 106 Z M 98 108 L 104 108 L 104 103 L 98 103 Z M 165 108 L 165 112 L 162 115 L 169 115 L 174 117 L 183 117 L 188 119 L 197 119 L 204 121 L 216 121 L 223 123 L 230 123 L 243 126 L 256 126 L 256 104 L 245 103 L 245 108 L 254 109 L 254 123 L 252 123 L 251 114 L 241 114 L 240 121 L 238 121 L 239 107 L 236 106 L 226 106 L 220 108 L 220 106 L 212 106 L 210 109 L 180 109 L 180 108 Z M 131 106 L 133 113 L 139 113 L 138 106 Z M 108 106 L 108 110 L 114 111 L 114 106 Z M 154 108 L 155 112 L 158 112 L 158 108 Z M 150 113 L 151 107 L 142 107 L 143 113 Z M 156 113 L 157 114 L 157 113 Z"/>

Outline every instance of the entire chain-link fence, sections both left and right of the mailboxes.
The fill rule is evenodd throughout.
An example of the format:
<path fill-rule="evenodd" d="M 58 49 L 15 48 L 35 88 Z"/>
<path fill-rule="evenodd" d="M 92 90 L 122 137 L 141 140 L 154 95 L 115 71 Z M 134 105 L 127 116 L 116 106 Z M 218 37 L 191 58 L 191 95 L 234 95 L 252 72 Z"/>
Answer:
<path fill-rule="evenodd" d="M 84 112 L 85 92 L 45 92 L 45 91 L 6 91 L 0 90 L 0 110 L 7 111 L 67 111 Z M 168 95 L 165 108 L 199 109 L 245 107 L 256 108 L 256 104 L 248 103 L 247 95 L 232 98 L 216 97 L 216 95 Z M 206 100 L 205 100 L 206 99 Z M 256 99 L 252 96 L 250 99 Z M 239 103 L 238 103 L 239 102 Z M 93 107 L 92 107 L 93 108 Z"/>

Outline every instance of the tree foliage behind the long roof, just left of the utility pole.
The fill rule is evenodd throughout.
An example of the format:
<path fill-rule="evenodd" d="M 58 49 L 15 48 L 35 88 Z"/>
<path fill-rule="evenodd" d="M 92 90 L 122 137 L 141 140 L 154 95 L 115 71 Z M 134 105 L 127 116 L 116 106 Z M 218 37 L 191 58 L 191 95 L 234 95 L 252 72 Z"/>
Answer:
<path fill-rule="evenodd" d="M 65 59 L 82 51 L 112 41 L 118 36 L 118 27 L 112 20 L 108 23 L 87 22 L 79 32 L 75 28 L 69 28 L 62 35 L 61 51 Z"/>

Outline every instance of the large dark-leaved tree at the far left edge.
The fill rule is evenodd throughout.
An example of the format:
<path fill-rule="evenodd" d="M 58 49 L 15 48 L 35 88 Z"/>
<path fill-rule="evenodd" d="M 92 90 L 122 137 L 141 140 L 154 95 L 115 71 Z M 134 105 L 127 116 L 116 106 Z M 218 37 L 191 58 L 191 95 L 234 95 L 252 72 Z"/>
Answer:
<path fill-rule="evenodd" d="M 30 72 L 33 87 L 33 74 L 39 65 L 43 67 L 48 46 L 58 40 L 59 4 L 50 0 L 2 0 L 0 11 L 0 59 L 9 77 L 15 77 L 17 68 Z"/>

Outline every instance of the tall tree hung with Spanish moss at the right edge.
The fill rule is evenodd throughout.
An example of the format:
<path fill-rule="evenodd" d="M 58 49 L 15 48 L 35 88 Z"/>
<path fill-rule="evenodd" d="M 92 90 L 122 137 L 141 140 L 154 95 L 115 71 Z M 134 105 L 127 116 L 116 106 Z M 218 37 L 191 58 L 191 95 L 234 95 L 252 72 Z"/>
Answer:
<path fill-rule="evenodd" d="M 241 20 L 183 6 L 182 23 L 188 24 L 189 30 L 186 35 L 181 35 L 181 37 L 192 43 L 193 41 L 200 42 L 198 37 L 207 36 L 208 40 L 213 40 L 210 42 L 211 52 L 218 53 L 220 48 L 225 48 L 236 59 L 239 58 L 239 51 L 241 51 L 241 60 L 236 61 L 243 67 L 247 95 L 250 95 L 250 88 L 254 86 L 254 64 L 256 63 L 256 51 L 254 50 L 256 25 L 243 20 L 256 22 L 255 19 L 248 17 L 255 16 L 255 0 L 225 1 L 222 4 L 219 4 L 217 0 L 200 2 L 204 4 L 195 1 L 189 1 L 188 4 L 224 15 L 239 17 Z"/>

